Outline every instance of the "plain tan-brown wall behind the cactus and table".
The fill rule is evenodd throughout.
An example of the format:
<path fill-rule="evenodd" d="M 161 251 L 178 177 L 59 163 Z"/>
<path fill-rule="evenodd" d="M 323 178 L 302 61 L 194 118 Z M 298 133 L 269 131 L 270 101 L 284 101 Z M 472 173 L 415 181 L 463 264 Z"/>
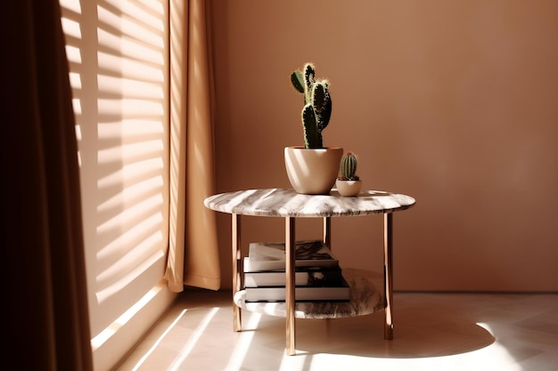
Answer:
<path fill-rule="evenodd" d="M 558 2 L 213 1 L 217 191 L 289 187 L 293 69 L 332 82 L 324 144 L 394 215 L 398 290 L 558 290 Z M 218 214 L 223 286 L 230 216 Z M 244 217 L 244 248 L 283 220 Z M 320 222 L 297 224 L 319 237 Z M 346 267 L 382 270 L 382 217 L 334 219 Z"/>

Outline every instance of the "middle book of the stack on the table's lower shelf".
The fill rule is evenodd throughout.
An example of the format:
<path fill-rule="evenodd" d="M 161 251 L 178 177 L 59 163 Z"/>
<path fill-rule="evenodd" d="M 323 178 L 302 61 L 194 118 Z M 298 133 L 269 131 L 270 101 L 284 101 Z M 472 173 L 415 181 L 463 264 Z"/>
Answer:
<path fill-rule="evenodd" d="M 284 270 L 252 270 L 250 259 L 244 258 L 244 286 L 285 286 Z M 295 268 L 295 286 L 339 285 L 342 282 L 341 267 L 298 267 Z"/>

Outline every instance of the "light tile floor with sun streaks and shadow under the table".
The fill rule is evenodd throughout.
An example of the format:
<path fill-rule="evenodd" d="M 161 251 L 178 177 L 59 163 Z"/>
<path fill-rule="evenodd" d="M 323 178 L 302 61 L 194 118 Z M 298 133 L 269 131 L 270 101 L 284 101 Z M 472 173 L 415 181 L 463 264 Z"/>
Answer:
<path fill-rule="evenodd" d="M 285 321 L 242 311 L 229 291 L 188 290 L 116 371 L 558 370 L 558 294 L 394 295 L 395 337 L 383 311 L 352 319 Z"/>

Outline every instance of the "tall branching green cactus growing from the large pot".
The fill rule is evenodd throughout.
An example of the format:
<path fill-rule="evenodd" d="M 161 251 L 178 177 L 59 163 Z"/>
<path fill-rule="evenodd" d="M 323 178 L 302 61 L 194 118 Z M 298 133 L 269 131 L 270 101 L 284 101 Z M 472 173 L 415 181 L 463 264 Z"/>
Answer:
<path fill-rule="evenodd" d="M 302 71 L 291 74 L 295 90 L 304 95 L 304 107 L 300 115 L 304 129 L 304 146 L 307 149 L 324 148 L 322 131 L 332 116 L 332 97 L 329 82 L 316 80 L 314 64 L 306 63 Z"/>

